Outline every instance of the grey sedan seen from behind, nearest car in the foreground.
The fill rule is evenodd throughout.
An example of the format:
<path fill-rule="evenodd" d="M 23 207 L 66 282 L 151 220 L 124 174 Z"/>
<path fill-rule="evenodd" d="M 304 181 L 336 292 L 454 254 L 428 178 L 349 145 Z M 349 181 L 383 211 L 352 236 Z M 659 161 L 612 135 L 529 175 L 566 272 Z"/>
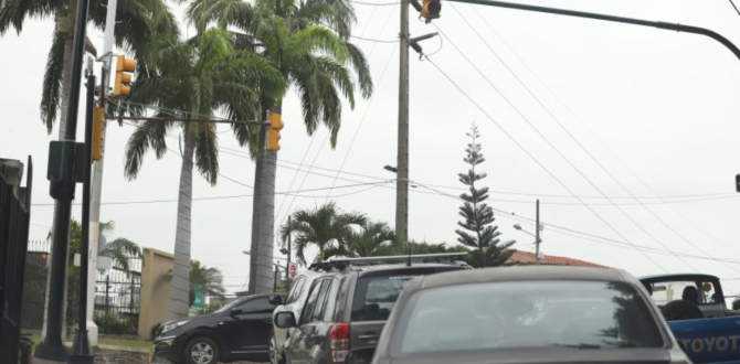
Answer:
<path fill-rule="evenodd" d="M 415 278 L 372 363 L 689 362 L 627 272 L 520 266 Z"/>

